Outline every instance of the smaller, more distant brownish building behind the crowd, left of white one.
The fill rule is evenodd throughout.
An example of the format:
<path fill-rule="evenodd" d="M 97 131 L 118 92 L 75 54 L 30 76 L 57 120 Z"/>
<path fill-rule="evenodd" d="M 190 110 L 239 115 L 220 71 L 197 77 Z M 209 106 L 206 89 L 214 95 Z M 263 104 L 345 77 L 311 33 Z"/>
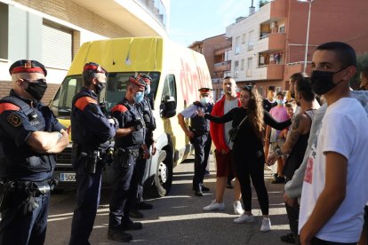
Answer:
<path fill-rule="evenodd" d="M 204 55 L 212 79 L 213 99 L 219 99 L 222 95 L 222 78 L 230 71 L 228 51 L 231 50 L 231 39 L 221 34 L 196 41 L 188 48 Z"/>

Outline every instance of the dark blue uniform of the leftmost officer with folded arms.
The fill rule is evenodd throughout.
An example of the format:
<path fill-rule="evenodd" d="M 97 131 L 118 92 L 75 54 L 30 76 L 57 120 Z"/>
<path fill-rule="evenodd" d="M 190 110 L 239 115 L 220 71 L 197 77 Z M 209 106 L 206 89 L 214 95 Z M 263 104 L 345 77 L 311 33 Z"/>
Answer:
<path fill-rule="evenodd" d="M 35 131 L 62 129 L 41 102 L 20 99 L 14 91 L 0 100 L 0 178 L 13 183 L 9 207 L 2 210 L 0 244 L 44 244 L 50 199 L 46 186 L 56 160 L 54 154 L 36 153 L 26 140 Z M 44 186 L 44 194 L 36 186 Z"/>

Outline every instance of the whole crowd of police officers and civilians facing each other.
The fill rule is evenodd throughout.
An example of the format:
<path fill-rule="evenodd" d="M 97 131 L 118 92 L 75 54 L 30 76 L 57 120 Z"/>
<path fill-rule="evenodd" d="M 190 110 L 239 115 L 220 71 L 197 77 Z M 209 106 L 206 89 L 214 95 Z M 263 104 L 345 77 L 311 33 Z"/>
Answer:
<path fill-rule="evenodd" d="M 124 99 L 108 116 L 98 101 L 108 71 L 86 63 L 83 87 L 72 101 L 71 127 L 65 128 L 40 102 L 47 89 L 44 66 L 21 59 L 9 72 L 13 89 L 0 99 L 0 243 L 44 244 L 55 154 L 68 146 L 70 133 L 77 202 L 69 244 L 90 244 L 101 174 L 108 165 L 108 239 L 131 241 L 126 231 L 143 226 L 131 217 L 153 208 L 142 196 L 145 165 L 156 154 L 156 123 L 147 97 L 151 78 L 130 77 Z M 349 86 L 355 74 L 354 49 L 332 42 L 316 47 L 310 76 L 290 77 L 289 94 L 269 86 L 262 99 L 253 85 L 236 92 L 236 80 L 228 76 L 223 97 L 213 104 L 212 90 L 201 88 L 199 101 L 180 112 L 178 121 L 195 149 L 192 187 L 198 197 L 210 191 L 204 175 L 212 143 L 215 147 L 215 199 L 203 210 L 224 210 L 226 186 L 235 178 L 233 208 L 239 217 L 234 223 L 254 222 L 252 183 L 262 212 L 260 231 L 270 231 L 264 170 L 277 162 L 271 183 L 284 184 L 291 231 L 281 241 L 366 244 L 368 67 L 361 73 L 361 91 Z"/>

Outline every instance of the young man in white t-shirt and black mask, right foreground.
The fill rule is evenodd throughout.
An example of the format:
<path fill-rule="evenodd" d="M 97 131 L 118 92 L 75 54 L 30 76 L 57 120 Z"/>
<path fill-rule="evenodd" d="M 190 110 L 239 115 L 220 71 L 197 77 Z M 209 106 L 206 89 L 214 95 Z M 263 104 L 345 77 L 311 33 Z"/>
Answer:
<path fill-rule="evenodd" d="M 312 59 L 311 85 L 327 110 L 310 150 L 300 203 L 301 244 L 355 244 L 368 200 L 368 118 L 351 98 L 356 53 L 346 43 L 324 43 Z"/>

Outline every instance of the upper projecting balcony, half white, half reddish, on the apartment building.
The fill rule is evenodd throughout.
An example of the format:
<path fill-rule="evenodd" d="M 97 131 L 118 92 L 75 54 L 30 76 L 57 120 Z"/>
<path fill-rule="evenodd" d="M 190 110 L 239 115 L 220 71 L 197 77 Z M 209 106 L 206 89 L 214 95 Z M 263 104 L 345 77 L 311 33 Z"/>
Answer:
<path fill-rule="evenodd" d="M 285 49 L 285 34 L 284 33 L 270 33 L 268 35 L 260 36 L 257 42 L 257 51 L 284 51 Z"/>

